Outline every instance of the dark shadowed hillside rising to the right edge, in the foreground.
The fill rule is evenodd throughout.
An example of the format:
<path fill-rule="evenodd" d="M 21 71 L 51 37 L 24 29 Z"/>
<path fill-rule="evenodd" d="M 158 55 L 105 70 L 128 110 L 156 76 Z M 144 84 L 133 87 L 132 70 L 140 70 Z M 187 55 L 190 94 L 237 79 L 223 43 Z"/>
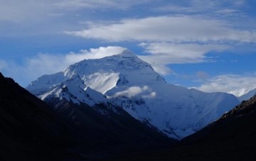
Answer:
<path fill-rule="evenodd" d="M 256 160 L 256 96 L 178 145 L 110 160 Z"/>

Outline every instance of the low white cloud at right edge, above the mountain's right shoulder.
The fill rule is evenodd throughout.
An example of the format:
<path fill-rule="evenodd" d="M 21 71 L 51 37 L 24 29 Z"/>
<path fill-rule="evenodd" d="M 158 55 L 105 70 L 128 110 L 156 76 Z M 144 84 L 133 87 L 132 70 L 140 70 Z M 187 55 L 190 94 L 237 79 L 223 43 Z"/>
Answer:
<path fill-rule="evenodd" d="M 194 87 L 201 91 L 235 91 L 241 88 L 248 88 L 256 85 L 255 74 L 237 75 L 237 74 L 222 74 L 217 77 L 208 79 L 200 87 Z"/>

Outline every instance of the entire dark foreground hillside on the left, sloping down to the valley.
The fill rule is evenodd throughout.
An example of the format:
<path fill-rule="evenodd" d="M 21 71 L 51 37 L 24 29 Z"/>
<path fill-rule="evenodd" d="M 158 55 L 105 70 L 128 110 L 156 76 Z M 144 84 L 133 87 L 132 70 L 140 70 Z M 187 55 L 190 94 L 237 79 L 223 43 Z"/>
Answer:
<path fill-rule="evenodd" d="M 53 100 L 52 100 L 53 101 Z M 45 102 L 0 73 L 0 160 L 91 160 L 174 143 L 121 108 Z"/>

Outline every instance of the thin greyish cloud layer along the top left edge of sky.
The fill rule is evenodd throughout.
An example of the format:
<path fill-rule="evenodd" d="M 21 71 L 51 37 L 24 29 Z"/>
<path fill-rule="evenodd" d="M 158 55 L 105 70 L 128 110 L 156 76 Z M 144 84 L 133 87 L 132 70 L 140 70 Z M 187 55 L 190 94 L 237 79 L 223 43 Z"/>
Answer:
<path fill-rule="evenodd" d="M 1 0 L 0 21 L 33 21 L 42 22 L 47 16 L 61 16 L 72 9 L 79 13 L 81 9 L 129 9 L 151 0 Z M 67 16 L 66 16 L 67 17 Z M 68 18 L 67 18 L 68 19 Z M 67 20 L 66 19 L 66 20 Z M 28 21 L 28 22 L 29 22 Z M 59 21 L 58 21 L 59 22 Z"/>

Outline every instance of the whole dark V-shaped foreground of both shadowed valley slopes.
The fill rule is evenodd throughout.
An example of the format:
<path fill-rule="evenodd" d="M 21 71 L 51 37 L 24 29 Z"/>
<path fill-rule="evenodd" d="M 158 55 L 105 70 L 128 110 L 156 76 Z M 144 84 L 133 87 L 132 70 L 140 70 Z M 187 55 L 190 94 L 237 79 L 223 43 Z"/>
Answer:
<path fill-rule="evenodd" d="M 171 146 L 121 108 L 48 106 L 1 74 L 0 89 L 0 160 L 256 160 L 256 97 Z"/>

